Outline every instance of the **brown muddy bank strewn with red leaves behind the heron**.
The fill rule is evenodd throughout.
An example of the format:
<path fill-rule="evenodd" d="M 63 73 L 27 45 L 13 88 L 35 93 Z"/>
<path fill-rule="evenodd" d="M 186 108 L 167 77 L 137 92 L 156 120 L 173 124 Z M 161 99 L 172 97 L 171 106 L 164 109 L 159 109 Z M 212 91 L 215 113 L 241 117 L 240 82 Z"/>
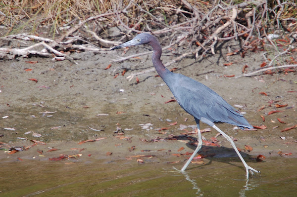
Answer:
<path fill-rule="evenodd" d="M 249 53 L 245 58 L 235 55 L 226 59 L 226 48 L 236 46 L 237 43 L 229 42 L 223 45 L 216 55 L 207 56 L 201 62 L 191 58 L 184 59 L 174 65 L 177 68 L 174 72 L 204 83 L 231 105 L 243 106 L 236 108 L 246 113 L 245 117 L 252 125 L 267 126 L 266 129 L 256 131 L 240 131 L 233 130 L 232 125 L 219 124 L 223 131 L 237 139 L 236 144 L 239 148 L 245 150 L 245 145 L 250 145 L 253 151 L 248 154 L 255 156 L 257 154 L 265 157 L 275 156 L 282 151 L 292 153 L 290 157 L 296 157 L 296 128 L 281 132 L 297 124 L 296 73 L 281 72 L 238 79 L 224 77 L 224 75 L 241 75 L 244 65 L 249 66 L 248 71 L 253 71 L 263 62 L 260 52 Z M 148 47 L 130 48 L 125 56 L 144 50 L 148 50 Z M 179 50 L 182 49 L 178 48 Z M 127 156 L 131 154 L 128 148 L 135 145 L 138 151 L 151 148 L 150 146 L 155 147 L 156 151 L 167 150 L 170 144 L 174 144 L 170 150 L 177 151 L 180 146 L 184 146 L 186 148 L 184 152 L 191 152 L 192 149 L 185 145 L 189 142 L 187 139 L 182 143 L 179 142 L 180 145 L 172 141 L 162 142 L 166 143 L 165 148 L 159 145 L 160 142 L 148 143 L 140 140 L 140 138 L 147 140 L 165 138 L 169 134 L 179 135 L 183 132 L 178 130 L 180 124 L 191 126 L 195 125 L 195 121 L 176 102 L 165 104 L 173 98 L 173 95 L 163 80 L 155 77 L 156 72 L 138 76 L 139 83 L 135 79 L 132 81 L 126 79 L 131 73 L 152 68 L 150 55 L 142 56 L 141 59 L 112 63 L 111 67 L 105 70 L 110 60 L 116 59 L 120 54 L 120 50 L 106 54 L 73 53 L 72 57 L 76 59 L 78 65 L 67 60 L 52 61 L 40 57 L 1 61 L 0 114 L 1 117 L 8 116 L 0 119 L 1 142 L 6 143 L 7 148 L 11 145 L 28 146 L 32 144 L 29 140 L 34 139 L 47 143 L 48 147 L 59 144 L 61 150 L 69 152 L 67 143 L 77 144 L 83 140 L 106 137 L 102 141 L 89 144 L 94 146 L 94 150 L 100 146 L 100 152 L 105 154 L 105 152 L 115 152 L 117 148 L 114 145 L 121 142 L 124 151 L 121 150 L 120 153 Z M 176 52 L 173 54 L 164 51 L 162 60 L 170 61 L 175 55 Z M 289 57 L 284 57 L 286 58 Z M 32 64 L 32 62 L 37 63 Z M 223 65 L 228 62 L 233 64 Z M 124 76 L 121 75 L 123 70 L 127 71 Z M 116 75 L 118 76 L 115 78 Z M 265 92 L 267 96 L 259 94 L 260 92 Z M 273 102 L 270 102 L 272 100 Z M 275 104 L 288 105 L 277 109 Z M 259 111 L 263 106 L 265 108 Z M 272 110 L 283 112 L 267 115 Z M 98 114 L 108 114 L 108 116 L 96 116 Z M 261 115 L 265 117 L 265 122 Z M 185 118 L 188 118 L 187 121 Z M 281 123 L 277 118 L 286 123 Z M 175 121 L 176 125 L 169 125 Z M 151 123 L 152 126 L 142 129 L 139 125 L 146 123 Z M 119 136 L 115 133 L 117 127 L 124 131 L 122 136 L 132 138 L 130 140 L 115 138 Z M 157 128 L 164 127 L 169 127 L 164 130 L 166 134 L 159 133 Z M 201 125 L 201 129 L 206 127 L 208 126 L 205 124 Z M 188 130 L 192 131 L 190 127 Z M 31 133 L 25 134 L 29 131 Z M 36 138 L 32 136 L 33 133 L 41 134 L 41 137 Z M 216 135 L 216 131 L 202 135 L 211 141 L 210 138 Z M 220 146 L 231 148 L 221 136 L 217 139 Z M 36 151 L 36 147 L 33 149 Z M 19 152 L 16 155 L 30 158 L 32 150 Z M 140 154 L 136 153 L 136 150 L 135 154 Z M 2 158 L 7 156 L 6 153 L 1 155 Z"/>

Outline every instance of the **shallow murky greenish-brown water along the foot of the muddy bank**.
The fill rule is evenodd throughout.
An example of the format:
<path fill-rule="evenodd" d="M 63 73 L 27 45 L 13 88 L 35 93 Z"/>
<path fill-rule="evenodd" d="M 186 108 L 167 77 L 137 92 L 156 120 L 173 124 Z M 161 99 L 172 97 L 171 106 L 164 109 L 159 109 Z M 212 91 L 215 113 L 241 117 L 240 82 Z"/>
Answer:
<path fill-rule="evenodd" d="M 275 157 L 253 162 L 261 174 L 248 182 L 240 162 L 212 161 L 184 174 L 173 169 L 180 164 L 123 159 L 1 162 L 0 197 L 293 197 L 296 162 Z"/>

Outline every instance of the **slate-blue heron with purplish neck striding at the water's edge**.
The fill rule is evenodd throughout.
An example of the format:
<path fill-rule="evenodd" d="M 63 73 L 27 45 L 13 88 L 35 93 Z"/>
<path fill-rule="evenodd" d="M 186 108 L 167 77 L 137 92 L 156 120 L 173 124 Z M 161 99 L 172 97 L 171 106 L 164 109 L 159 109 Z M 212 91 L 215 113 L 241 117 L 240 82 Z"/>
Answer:
<path fill-rule="evenodd" d="M 198 146 L 192 156 L 183 166 L 181 171 L 184 172 L 186 170 L 191 160 L 202 147 L 202 139 L 199 126 L 199 122 L 201 120 L 202 122 L 216 129 L 231 143 L 237 155 L 246 167 L 247 179 L 249 171 L 251 172 L 251 174 L 253 174 L 252 171 L 260 172 L 247 165 L 246 161 L 237 150 L 233 140 L 222 130 L 220 130 L 214 124 L 214 122 L 226 122 L 228 124 L 237 125 L 241 129 L 244 129 L 244 127 L 251 129 L 253 128 L 252 125 L 247 122 L 247 119 L 244 118 L 243 115 L 241 115 L 236 109 L 229 105 L 222 97 L 220 97 L 209 87 L 184 75 L 170 72 L 163 65 L 160 59 L 162 55 L 162 48 L 160 46 L 160 43 L 154 36 L 147 33 L 142 33 L 137 35 L 130 41 L 113 47 L 111 50 L 140 44 L 148 44 L 152 47 L 153 53 L 151 59 L 157 73 L 168 85 L 179 105 L 187 113 L 192 115 L 197 123 Z"/>

